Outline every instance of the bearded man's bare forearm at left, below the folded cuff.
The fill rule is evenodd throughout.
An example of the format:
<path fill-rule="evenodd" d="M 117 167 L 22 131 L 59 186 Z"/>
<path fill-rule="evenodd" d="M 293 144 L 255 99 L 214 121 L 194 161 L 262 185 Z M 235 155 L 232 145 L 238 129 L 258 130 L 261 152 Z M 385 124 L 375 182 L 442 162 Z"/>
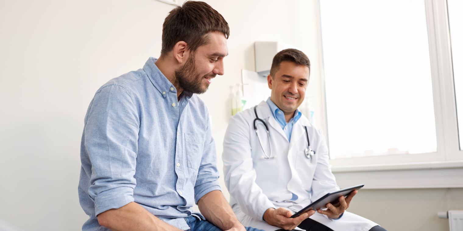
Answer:
<path fill-rule="evenodd" d="M 98 214 L 98 223 L 112 231 L 180 231 L 135 202 Z"/>

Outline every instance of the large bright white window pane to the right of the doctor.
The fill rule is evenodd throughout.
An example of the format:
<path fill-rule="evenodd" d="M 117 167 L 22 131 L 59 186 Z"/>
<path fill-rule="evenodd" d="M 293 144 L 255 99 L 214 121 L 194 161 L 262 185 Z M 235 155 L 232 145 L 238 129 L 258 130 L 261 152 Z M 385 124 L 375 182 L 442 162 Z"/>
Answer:
<path fill-rule="evenodd" d="M 331 157 L 437 152 L 424 1 L 320 4 Z"/>

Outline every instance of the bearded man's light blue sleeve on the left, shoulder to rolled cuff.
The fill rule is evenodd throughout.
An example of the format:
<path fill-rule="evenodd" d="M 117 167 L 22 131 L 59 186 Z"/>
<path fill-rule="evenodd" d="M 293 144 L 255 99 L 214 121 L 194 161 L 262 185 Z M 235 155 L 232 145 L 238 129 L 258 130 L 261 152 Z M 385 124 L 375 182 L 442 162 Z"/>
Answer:
<path fill-rule="evenodd" d="M 84 128 L 92 164 L 88 195 L 95 215 L 134 201 L 139 118 L 129 91 L 108 85 L 96 93 Z"/>

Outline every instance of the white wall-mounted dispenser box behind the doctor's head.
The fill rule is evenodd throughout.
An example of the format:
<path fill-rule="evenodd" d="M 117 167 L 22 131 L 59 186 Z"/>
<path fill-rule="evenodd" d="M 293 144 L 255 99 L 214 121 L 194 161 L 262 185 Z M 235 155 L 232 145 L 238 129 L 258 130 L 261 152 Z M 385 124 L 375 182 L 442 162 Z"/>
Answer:
<path fill-rule="evenodd" d="M 267 75 L 270 73 L 270 67 L 272 67 L 273 57 L 276 55 L 276 53 L 289 48 L 298 49 L 292 45 L 281 42 L 257 41 L 254 43 L 256 72 L 261 76 L 267 77 Z"/>

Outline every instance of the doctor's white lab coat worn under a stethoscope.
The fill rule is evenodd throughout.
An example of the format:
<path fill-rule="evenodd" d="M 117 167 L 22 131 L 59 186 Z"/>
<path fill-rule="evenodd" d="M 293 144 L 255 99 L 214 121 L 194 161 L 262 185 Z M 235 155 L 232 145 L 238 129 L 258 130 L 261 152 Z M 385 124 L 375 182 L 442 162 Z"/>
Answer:
<path fill-rule="evenodd" d="M 265 231 L 280 229 L 262 220 L 269 207 L 284 207 L 293 213 L 306 207 L 328 192 L 338 190 L 328 163 L 328 147 L 322 131 L 305 116 L 294 124 L 291 142 L 275 120 L 269 105 L 262 101 L 257 115 L 267 123 L 273 159 L 264 159 L 253 121 L 254 107 L 230 118 L 224 138 L 225 184 L 230 192 L 230 205 L 244 226 Z M 260 142 L 269 155 L 269 142 L 262 122 L 256 122 Z M 312 161 L 304 154 L 307 136 L 316 154 Z M 298 196 L 295 201 L 293 193 Z M 341 219 L 329 219 L 315 213 L 310 217 L 334 231 L 368 231 L 376 223 L 356 214 L 345 212 Z M 342 228 L 341 228 L 342 227 Z"/>

